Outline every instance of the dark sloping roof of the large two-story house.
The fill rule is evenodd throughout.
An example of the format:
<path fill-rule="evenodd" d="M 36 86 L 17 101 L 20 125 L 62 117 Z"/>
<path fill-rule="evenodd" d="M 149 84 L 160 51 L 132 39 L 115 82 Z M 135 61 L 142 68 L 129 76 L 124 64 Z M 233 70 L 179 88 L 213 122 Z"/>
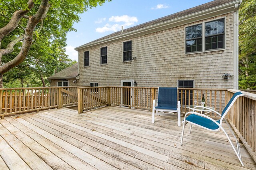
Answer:
<path fill-rule="evenodd" d="M 204 10 L 207 10 L 207 9 L 210 9 L 210 8 L 214 8 L 214 7 L 217 7 L 217 6 L 221 6 L 221 5 L 224 5 L 224 4 L 228 4 L 228 3 L 234 2 L 234 1 L 237 2 L 238 0 L 214 0 L 214 1 L 208 2 L 206 4 L 202 4 L 200 6 L 196 6 L 194 8 L 190 8 L 188 10 L 177 12 L 177 13 L 171 14 L 169 16 L 158 18 L 156 20 L 152 20 L 152 21 L 149 21 L 149 22 L 146 22 L 146 23 L 142 23 L 140 25 L 136 25 L 134 27 L 130 27 L 130 28 L 124 29 L 123 33 L 122 33 L 122 31 L 114 32 L 112 34 L 106 35 L 105 37 L 101 37 L 99 39 L 91 41 L 90 43 L 86 43 L 84 45 L 76 47 L 75 49 L 76 50 L 77 49 L 81 49 L 83 47 L 89 46 L 90 44 L 94 44 L 97 41 L 102 41 L 104 39 L 109 39 L 111 37 L 115 37 L 115 36 L 118 36 L 118 35 L 121 35 L 121 34 L 124 34 L 124 33 L 128 33 L 128 32 L 135 31 L 135 30 L 138 30 L 138 29 L 142 29 L 142 28 L 145 28 L 145 27 L 150 27 L 150 26 L 156 25 L 158 23 L 163 23 L 163 22 L 166 22 L 166 21 L 174 20 L 174 19 L 177 19 L 177 18 L 180 18 L 180 17 L 183 17 L 183 16 L 194 14 L 196 12 L 204 11 Z"/>

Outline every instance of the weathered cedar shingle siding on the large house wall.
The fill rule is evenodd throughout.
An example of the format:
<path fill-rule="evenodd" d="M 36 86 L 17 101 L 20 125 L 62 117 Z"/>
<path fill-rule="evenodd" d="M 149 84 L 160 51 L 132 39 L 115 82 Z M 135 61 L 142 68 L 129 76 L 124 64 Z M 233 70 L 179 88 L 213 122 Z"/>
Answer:
<path fill-rule="evenodd" d="M 98 82 L 99 86 L 120 86 L 121 80 L 135 80 L 137 86 L 176 87 L 177 80 L 194 80 L 195 88 L 234 88 L 233 78 L 221 78 L 224 73 L 234 75 L 233 14 L 231 12 L 92 48 L 80 46 L 79 85 L 89 86 L 90 82 Z M 225 49 L 185 54 L 185 27 L 220 18 L 224 18 L 226 23 Z M 131 62 L 123 62 L 123 42 L 126 41 L 132 41 L 132 58 L 136 57 Z M 108 49 L 106 65 L 100 64 L 101 47 Z M 89 67 L 84 67 L 84 51 L 90 51 Z"/>

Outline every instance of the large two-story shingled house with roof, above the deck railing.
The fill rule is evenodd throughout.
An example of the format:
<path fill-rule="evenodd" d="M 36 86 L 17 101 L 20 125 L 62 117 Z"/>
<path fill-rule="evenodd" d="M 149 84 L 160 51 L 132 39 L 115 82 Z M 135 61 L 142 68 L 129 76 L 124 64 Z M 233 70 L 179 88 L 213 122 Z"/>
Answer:
<path fill-rule="evenodd" d="M 76 47 L 77 85 L 237 89 L 240 3 L 215 0 Z"/>

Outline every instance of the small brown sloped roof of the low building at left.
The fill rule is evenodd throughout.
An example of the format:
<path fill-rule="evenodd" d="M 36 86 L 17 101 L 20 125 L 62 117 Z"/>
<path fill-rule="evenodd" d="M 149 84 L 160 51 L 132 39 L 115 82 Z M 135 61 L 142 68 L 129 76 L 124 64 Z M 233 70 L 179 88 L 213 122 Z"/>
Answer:
<path fill-rule="evenodd" d="M 56 74 L 48 77 L 48 79 L 64 79 L 64 78 L 76 78 L 78 75 L 78 63 L 57 72 Z"/>

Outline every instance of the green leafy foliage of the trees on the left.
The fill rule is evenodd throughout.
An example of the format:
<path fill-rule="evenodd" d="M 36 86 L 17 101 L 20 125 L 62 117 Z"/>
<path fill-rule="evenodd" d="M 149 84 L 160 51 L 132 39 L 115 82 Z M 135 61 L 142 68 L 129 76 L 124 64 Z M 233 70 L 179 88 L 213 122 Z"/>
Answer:
<path fill-rule="evenodd" d="M 66 33 L 76 31 L 74 22 L 78 22 L 78 14 L 86 12 L 88 8 L 102 5 L 106 0 L 50 0 L 50 9 L 47 17 L 36 25 L 34 29 L 34 42 L 26 59 L 18 66 L 4 74 L 4 87 L 17 86 L 42 86 L 40 76 L 46 85 L 47 77 L 76 63 L 66 55 Z M 4 27 L 12 18 L 16 10 L 28 9 L 28 1 L 1 0 L 0 1 L 0 28 Z M 41 0 L 33 0 L 34 7 L 27 16 L 36 14 Z M 18 27 L 2 40 L 1 48 L 4 49 L 16 37 L 24 34 L 28 19 L 22 18 Z M 2 64 L 14 59 L 22 47 L 22 41 L 14 46 L 14 51 L 2 56 Z"/>

